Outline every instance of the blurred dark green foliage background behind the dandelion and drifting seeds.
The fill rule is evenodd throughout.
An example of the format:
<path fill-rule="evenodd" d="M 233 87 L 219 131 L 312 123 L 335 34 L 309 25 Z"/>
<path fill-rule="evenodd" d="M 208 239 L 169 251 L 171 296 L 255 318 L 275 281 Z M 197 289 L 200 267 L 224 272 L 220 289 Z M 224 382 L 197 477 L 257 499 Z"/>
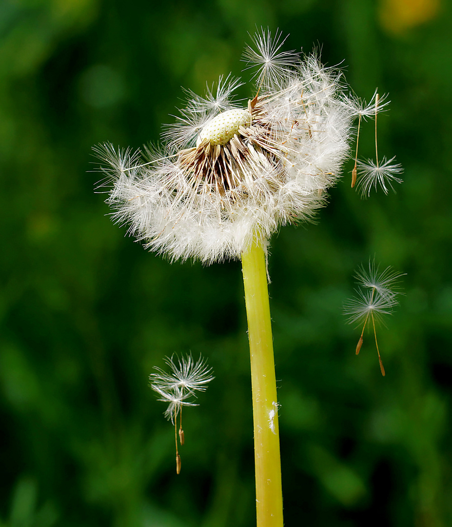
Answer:
<path fill-rule="evenodd" d="M 125 238 L 91 147 L 157 141 L 180 86 L 240 75 L 261 25 L 344 61 L 361 97 L 389 92 L 379 150 L 405 168 L 397 194 L 361 200 L 350 161 L 317 225 L 272 240 L 286 525 L 452 525 L 450 3 L 3 0 L 2 527 L 254 524 L 240 264 L 170 265 Z M 371 123 L 360 147 L 374 155 Z M 386 378 L 341 312 L 374 255 L 407 273 L 379 330 Z M 176 476 L 148 376 L 189 350 L 216 378 L 185 412 Z"/>

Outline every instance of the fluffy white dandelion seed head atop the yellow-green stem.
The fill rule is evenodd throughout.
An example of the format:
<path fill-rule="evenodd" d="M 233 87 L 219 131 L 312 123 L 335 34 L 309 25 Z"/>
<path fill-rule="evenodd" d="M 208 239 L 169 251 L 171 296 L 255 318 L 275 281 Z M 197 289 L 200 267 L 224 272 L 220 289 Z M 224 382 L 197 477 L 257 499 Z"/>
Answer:
<path fill-rule="evenodd" d="M 160 150 L 97 147 L 113 182 L 107 199 L 113 217 L 146 248 L 170 259 L 238 258 L 281 225 L 309 220 L 325 203 L 362 107 L 339 71 L 315 54 L 280 52 L 282 42 L 280 34 L 262 31 L 245 52 L 258 67 L 258 94 L 247 107 L 232 97 L 240 80 L 220 77 L 216 94 L 189 92 Z M 232 137 L 220 130 L 224 144 L 211 141 L 212 120 L 234 109 L 249 120 L 241 118 Z M 214 124 L 223 121 L 227 116 Z"/>

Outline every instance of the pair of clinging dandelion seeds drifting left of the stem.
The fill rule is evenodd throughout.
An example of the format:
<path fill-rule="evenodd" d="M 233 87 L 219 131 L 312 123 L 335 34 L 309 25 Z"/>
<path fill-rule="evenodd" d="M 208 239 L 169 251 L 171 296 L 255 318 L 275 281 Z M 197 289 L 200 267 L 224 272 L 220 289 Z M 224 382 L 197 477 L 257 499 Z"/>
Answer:
<path fill-rule="evenodd" d="M 174 355 L 163 359 L 171 369 L 170 373 L 164 372 L 161 368 L 154 366 L 157 373 L 151 373 L 149 376 L 150 386 L 160 398 L 158 401 L 168 403 L 168 408 L 164 416 L 174 424 L 174 438 L 176 445 L 176 473 L 181 471 L 181 456 L 178 450 L 178 428 L 177 417 L 179 421 L 179 442 L 185 443 L 185 434 L 182 428 L 182 406 L 198 406 L 188 399 L 194 395 L 195 391 L 205 392 L 207 384 L 214 378 L 211 375 L 212 368 L 209 368 L 205 359 L 201 356 L 194 362 L 191 354 L 179 358 Z"/>

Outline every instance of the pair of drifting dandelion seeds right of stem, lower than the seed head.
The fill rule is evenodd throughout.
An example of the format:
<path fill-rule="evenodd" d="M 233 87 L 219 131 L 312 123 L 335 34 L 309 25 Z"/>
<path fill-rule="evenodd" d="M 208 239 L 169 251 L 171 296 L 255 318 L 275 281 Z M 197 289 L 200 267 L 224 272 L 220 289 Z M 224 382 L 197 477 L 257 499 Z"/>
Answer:
<path fill-rule="evenodd" d="M 392 313 L 392 308 L 398 304 L 397 280 L 404 274 L 397 273 L 391 267 L 379 271 L 375 266 L 375 260 L 369 260 L 369 270 L 360 267 L 356 272 L 356 279 L 359 289 L 356 290 L 357 296 L 348 300 L 344 306 L 344 313 L 348 315 L 349 324 L 363 321 L 361 336 L 356 346 L 356 355 L 359 354 L 362 346 L 362 336 L 366 328 L 369 317 L 374 329 L 375 345 L 377 347 L 378 362 L 380 364 L 381 375 L 385 376 L 385 368 L 378 349 L 376 321 L 381 320 L 385 315 Z"/>

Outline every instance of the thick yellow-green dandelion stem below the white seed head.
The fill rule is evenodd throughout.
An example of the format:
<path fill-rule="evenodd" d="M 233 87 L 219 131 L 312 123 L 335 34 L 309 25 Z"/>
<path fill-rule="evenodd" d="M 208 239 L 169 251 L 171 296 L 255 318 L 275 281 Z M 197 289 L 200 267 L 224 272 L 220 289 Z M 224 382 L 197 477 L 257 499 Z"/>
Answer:
<path fill-rule="evenodd" d="M 257 527 L 282 527 L 278 398 L 262 245 L 242 253 L 242 270 L 251 356 Z"/>

